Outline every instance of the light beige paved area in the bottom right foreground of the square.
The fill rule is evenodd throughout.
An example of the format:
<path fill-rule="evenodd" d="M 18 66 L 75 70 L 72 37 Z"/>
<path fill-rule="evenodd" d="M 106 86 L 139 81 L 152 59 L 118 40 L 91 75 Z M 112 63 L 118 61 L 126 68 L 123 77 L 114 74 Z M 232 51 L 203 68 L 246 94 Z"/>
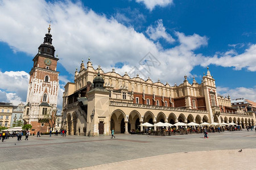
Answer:
<path fill-rule="evenodd" d="M 89 169 L 256 169 L 256 149 L 176 153 L 96 165 Z"/>

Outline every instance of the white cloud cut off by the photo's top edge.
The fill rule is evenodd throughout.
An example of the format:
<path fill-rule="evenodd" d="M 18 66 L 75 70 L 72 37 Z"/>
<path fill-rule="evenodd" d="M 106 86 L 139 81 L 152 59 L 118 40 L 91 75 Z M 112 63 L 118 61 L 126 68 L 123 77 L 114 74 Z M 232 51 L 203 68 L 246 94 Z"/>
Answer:
<path fill-rule="evenodd" d="M 136 0 L 138 3 L 144 3 L 148 10 L 152 11 L 155 6 L 166 7 L 172 5 L 173 0 Z"/>

